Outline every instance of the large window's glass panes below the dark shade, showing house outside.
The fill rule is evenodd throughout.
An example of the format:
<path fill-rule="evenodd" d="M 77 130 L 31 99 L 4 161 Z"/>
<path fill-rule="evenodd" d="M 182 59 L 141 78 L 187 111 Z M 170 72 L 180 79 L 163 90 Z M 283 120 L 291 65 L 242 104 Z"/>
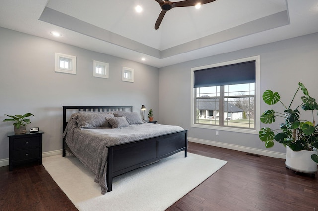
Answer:
<path fill-rule="evenodd" d="M 200 112 L 196 124 L 255 128 L 255 83 L 198 87 L 195 92 L 195 107 Z"/>

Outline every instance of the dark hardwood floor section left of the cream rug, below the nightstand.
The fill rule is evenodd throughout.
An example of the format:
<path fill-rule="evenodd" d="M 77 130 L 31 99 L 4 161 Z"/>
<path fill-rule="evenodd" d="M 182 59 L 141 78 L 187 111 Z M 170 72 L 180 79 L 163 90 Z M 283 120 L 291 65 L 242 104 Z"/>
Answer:
<path fill-rule="evenodd" d="M 61 155 L 62 156 L 62 155 Z M 43 165 L 0 168 L 0 211 L 77 211 Z"/>

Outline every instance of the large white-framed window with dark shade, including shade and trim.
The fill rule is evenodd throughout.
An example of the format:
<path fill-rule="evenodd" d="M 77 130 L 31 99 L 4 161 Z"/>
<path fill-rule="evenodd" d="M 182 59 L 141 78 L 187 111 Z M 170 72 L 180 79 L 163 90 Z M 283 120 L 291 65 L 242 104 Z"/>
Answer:
<path fill-rule="evenodd" d="M 257 133 L 259 56 L 191 69 L 191 126 Z"/>

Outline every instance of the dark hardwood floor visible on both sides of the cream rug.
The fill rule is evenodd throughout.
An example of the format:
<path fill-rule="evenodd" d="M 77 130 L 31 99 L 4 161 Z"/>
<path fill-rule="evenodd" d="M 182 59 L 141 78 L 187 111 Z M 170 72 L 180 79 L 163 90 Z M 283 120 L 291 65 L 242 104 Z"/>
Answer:
<path fill-rule="evenodd" d="M 228 163 L 167 211 L 318 211 L 317 174 L 295 174 L 283 159 L 202 144 L 189 143 L 189 152 Z M 77 209 L 42 165 L 30 164 L 0 168 L 0 210 Z"/>

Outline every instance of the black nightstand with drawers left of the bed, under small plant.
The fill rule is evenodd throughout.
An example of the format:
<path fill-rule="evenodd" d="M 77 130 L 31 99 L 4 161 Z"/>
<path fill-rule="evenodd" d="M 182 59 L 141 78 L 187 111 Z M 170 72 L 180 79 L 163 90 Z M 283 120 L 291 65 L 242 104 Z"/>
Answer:
<path fill-rule="evenodd" d="M 28 162 L 38 161 L 42 164 L 42 134 L 38 133 L 24 133 L 14 134 L 8 133 L 10 139 L 10 153 L 9 153 L 9 170 L 13 170 L 14 165 L 24 164 Z"/>

